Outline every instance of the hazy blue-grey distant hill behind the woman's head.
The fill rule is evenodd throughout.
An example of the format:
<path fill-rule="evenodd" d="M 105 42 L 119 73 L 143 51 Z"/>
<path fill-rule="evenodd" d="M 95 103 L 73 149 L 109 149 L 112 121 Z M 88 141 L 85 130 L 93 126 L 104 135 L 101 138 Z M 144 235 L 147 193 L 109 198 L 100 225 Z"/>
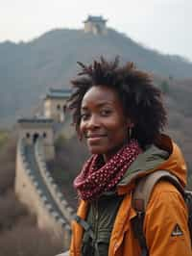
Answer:
<path fill-rule="evenodd" d="M 28 115 L 49 87 L 69 87 L 77 61 L 90 62 L 101 55 L 162 77 L 192 77 L 192 63 L 179 56 L 147 49 L 114 30 L 107 36 L 84 34 L 83 30 L 53 30 L 30 42 L 0 43 L 0 117 L 2 123 Z"/>

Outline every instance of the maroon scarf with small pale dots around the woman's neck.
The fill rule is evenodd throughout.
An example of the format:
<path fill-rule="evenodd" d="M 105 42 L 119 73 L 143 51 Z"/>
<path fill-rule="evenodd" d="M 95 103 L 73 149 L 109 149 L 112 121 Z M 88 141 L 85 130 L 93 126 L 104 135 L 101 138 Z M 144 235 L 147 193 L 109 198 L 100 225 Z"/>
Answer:
<path fill-rule="evenodd" d="M 103 192 L 113 190 L 141 152 L 138 142 L 132 140 L 106 164 L 102 163 L 101 155 L 92 155 L 74 180 L 74 188 L 78 191 L 80 198 L 94 200 Z"/>

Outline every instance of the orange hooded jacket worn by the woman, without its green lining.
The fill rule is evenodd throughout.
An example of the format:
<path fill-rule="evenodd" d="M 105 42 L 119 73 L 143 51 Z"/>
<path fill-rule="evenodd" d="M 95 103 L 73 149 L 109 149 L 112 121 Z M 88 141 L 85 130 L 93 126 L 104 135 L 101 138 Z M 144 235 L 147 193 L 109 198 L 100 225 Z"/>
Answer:
<path fill-rule="evenodd" d="M 129 175 L 126 184 L 120 183 L 117 188 L 117 192 L 125 194 L 125 197 L 115 218 L 108 256 L 140 256 L 140 246 L 134 238 L 131 225 L 131 220 L 135 217 L 132 209 L 132 189 L 136 177 L 166 169 L 177 175 L 183 186 L 186 183 L 186 166 L 179 147 L 166 136 L 162 136 L 158 146 L 169 152 L 169 158 L 156 167 L 151 165 L 151 168 L 142 170 L 136 168 Z M 86 218 L 87 208 L 88 203 L 81 201 L 77 215 Z M 143 227 L 150 256 L 192 256 L 187 217 L 187 209 L 180 192 L 172 184 L 160 181 L 152 192 Z M 181 230 L 179 235 L 174 233 L 177 226 Z M 83 234 L 83 228 L 73 221 L 70 256 L 81 255 Z"/>

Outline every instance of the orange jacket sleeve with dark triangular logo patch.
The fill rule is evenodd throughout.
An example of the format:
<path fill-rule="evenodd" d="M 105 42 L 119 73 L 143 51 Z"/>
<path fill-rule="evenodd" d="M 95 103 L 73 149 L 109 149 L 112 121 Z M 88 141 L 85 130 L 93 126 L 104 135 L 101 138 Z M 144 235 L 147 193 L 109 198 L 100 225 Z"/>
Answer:
<path fill-rule="evenodd" d="M 146 210 L 144 233 L 150 256 L 192 256 L 188 212 L 178 190 L 160 181 Z"/>

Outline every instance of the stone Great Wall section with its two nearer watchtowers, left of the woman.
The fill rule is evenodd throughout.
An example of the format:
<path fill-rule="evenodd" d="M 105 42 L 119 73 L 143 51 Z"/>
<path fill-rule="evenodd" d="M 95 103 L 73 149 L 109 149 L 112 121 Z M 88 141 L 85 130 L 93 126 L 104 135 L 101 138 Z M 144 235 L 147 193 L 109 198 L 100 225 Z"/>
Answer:
<path fill-rule="evenodd" d="M 60 113 L 59 106 L 65 106 L 66 95 L 56 97 L 55 94 L 51 101 L 49 109 L 55 108 L 55 114 L 57 111 Z M 24 126 L 20 127 L 17 142 L 15 193 L 36 215 L 38 227 L 51 231 L 56 238 L 62 236 L 63 248 L 68 248 L 74 210 L 63 197 L 46 166 L 46 160 L 54 157 L 54 140 L 60 133 L 54 130 L 54 123 L 59 121 L 58 114 L 55 114 L 19 121 Z M 60 125 L 63 126 L 63 113 L 60 116 Z"/>

